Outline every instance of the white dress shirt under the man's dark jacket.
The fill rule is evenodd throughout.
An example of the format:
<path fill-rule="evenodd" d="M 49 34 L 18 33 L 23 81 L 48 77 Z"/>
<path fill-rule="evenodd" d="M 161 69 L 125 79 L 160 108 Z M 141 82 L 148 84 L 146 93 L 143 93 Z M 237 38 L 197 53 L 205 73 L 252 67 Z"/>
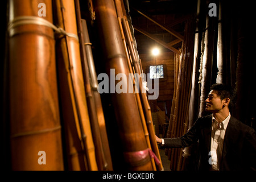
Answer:
<path fill-rule="evenodd" d="M 218 121 L 212 114 L 212 137 L 210 140 L 209 164 L 212 165 L 213 171 L 218 171 L 220 168 L 225 131 L 228 126 L 230 116 L 231 115 L 229 113 L 228 117 L 218 125 Z"/>

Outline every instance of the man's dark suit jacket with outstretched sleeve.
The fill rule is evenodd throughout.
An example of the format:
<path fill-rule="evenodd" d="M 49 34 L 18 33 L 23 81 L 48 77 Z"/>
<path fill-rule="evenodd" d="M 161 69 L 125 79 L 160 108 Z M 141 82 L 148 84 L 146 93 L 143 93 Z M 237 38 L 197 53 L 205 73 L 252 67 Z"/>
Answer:
<path fill-rule="evenodd" d="M 165 138 L 164 147 L 184 148 L 199 144 L 199 170 L 209 170 L 212 115 L 200 117 L 182 137 Z M 256 134 L 254 129 L 230 117 L 226 127 L 220 170 L 256 170 Z"/>

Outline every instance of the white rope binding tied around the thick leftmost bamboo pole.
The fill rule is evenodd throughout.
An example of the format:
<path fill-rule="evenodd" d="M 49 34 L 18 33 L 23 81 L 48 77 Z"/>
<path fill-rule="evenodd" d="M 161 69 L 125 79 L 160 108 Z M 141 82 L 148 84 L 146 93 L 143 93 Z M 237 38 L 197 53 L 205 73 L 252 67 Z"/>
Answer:
<path fill-rule="evenodd" d="M 37 24 L 37 25 L 46 26 L 46 27 L 49 27 L 49 28 L 52 28 L 53 30 L 55 30 L 57 32 L 57 34 L 66 35 L 66 36 L 69 36 L 71 38 L 75 38 L 75 39 L 77 39 L 77 41 L 79 41 L 79 37 L 76 34 L 68 33 L 65 30 L 63 30 L 63 28 L 56 27 L 54 24 L 47 21 L 46 19 L 43 19 L 43 18 L 40 18 L 40 17 L 37 17 L 37 16 L 18 16 L 16 18 L 14 18 L 9 23 L 9 27 L 8 27 L 8 31 L 10 32 L 10 36 L 12 36 L 11 30 L 13 28 L 18 27 L 18 26 L 22 26 L 23 24 Z"/>

